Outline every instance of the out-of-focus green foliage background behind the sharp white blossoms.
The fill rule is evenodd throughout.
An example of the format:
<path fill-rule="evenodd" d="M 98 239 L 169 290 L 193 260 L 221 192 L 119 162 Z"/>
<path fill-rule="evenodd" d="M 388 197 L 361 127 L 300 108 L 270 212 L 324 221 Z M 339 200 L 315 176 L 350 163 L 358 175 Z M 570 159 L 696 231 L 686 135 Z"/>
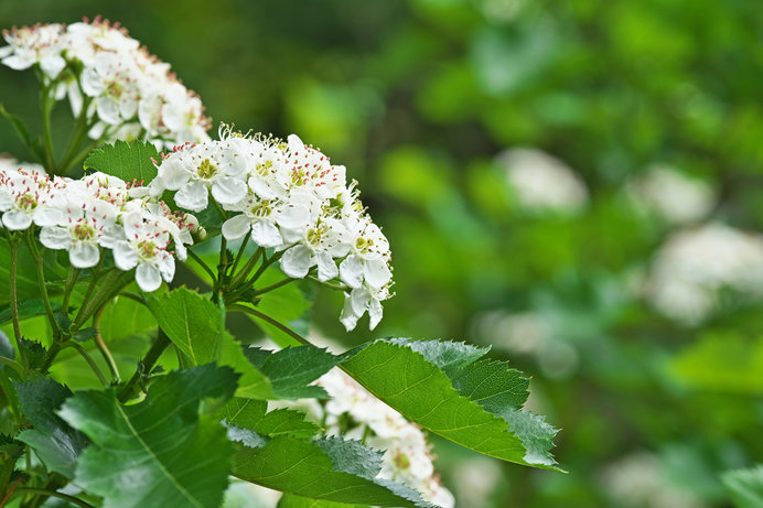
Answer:
<path fill-rule="evenodd" d="M 171 63 L 215 125 L 297 132 L 361 182 L 397 295 L 376 332 L 346 334 L 322 293 L 321 333 L 493 344 L 533 376 L 570 473 L 436 442 L 456 506 L 731 506 L 720 474 L 763 462 L 763 283 L 738 280 L 763 248 L 689 246 L 689 268 L 655 268 L 677 228 L 763 230 L 759 1 L 0 3 L 3 28 L 96 14 Z M 35 93 L 33 73 L 0 68 L 0 101 L 32 125 Z M 8 125 L 3 151 L 29 158 Z M 696 196 L 645 184 L 655 164 L 707 206 L 660 214 Z M 651 303 L 665 273 L 706 268 L 699 318 L 660 307 L 692 305 L 690 287 Z"/>

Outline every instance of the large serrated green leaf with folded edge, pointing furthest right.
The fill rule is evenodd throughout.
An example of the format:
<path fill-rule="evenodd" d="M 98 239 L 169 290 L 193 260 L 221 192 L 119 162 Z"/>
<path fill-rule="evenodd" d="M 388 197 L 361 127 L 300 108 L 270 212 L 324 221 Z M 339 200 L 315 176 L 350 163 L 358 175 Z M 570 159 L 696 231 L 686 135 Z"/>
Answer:
<path fill-rule="evenodd" d="M 452 353 L 459 349 L 463 345 L 438 341 L 376 341 L 348 353 L 343 367 L 436 434 L 496 458 L 558 469 L 549 453 L 556 430 L 520 410 L 527 380 L 504 363 L 475 361 L 476 349 L 456 361 Z M 428 358 L 445 365 L 452 378 Z"/>

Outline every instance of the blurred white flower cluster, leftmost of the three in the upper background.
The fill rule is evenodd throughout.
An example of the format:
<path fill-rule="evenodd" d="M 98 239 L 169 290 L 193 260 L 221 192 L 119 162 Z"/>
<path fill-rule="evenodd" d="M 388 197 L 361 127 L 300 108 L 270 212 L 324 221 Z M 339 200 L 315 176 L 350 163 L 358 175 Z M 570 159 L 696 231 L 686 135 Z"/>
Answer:
<path fill-rule="evenodd" d="M 536 149 L 516 148 L 496 156 L 519 206 L 529 212 L 574 214 L 588 203 L 582 179 L 560 160 Z"/>

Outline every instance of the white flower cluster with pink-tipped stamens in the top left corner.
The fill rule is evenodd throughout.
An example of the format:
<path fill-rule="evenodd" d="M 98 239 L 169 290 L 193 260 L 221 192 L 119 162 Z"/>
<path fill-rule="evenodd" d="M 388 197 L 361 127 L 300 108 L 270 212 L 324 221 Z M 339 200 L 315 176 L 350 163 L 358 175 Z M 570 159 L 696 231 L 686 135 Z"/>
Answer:
<path fill-rule="evenodd" d="M 144 138 L 171 147 L 208 139 L 202 101 L 118 24 L 96 18 L 69 25 L 4 31 L 0 60 L 13 69 L 39 66 L 56 100 L 78 116 L 85 99 L 89 136 Z"/>

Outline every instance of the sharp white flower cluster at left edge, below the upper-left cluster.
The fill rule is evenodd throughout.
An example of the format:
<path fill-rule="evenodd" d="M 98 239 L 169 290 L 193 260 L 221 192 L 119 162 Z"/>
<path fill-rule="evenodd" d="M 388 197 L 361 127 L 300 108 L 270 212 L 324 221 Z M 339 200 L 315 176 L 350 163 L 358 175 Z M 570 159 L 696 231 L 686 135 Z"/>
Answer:
<path fill-rule="evenodd" d="M 118 269 L 136 268 L 138 285 L 154 291 L 174 277 L 174 258 L 185 259 L 197 221 L 144 199 L 147 194 L 146 187 L 104 173 L 71 180 L 33 167 L 0 170 L 2 226 L 11 231 L 37 226 L 40 242 L 67 250 L 79 269 L 98 264 L 108 249 Z"/>

